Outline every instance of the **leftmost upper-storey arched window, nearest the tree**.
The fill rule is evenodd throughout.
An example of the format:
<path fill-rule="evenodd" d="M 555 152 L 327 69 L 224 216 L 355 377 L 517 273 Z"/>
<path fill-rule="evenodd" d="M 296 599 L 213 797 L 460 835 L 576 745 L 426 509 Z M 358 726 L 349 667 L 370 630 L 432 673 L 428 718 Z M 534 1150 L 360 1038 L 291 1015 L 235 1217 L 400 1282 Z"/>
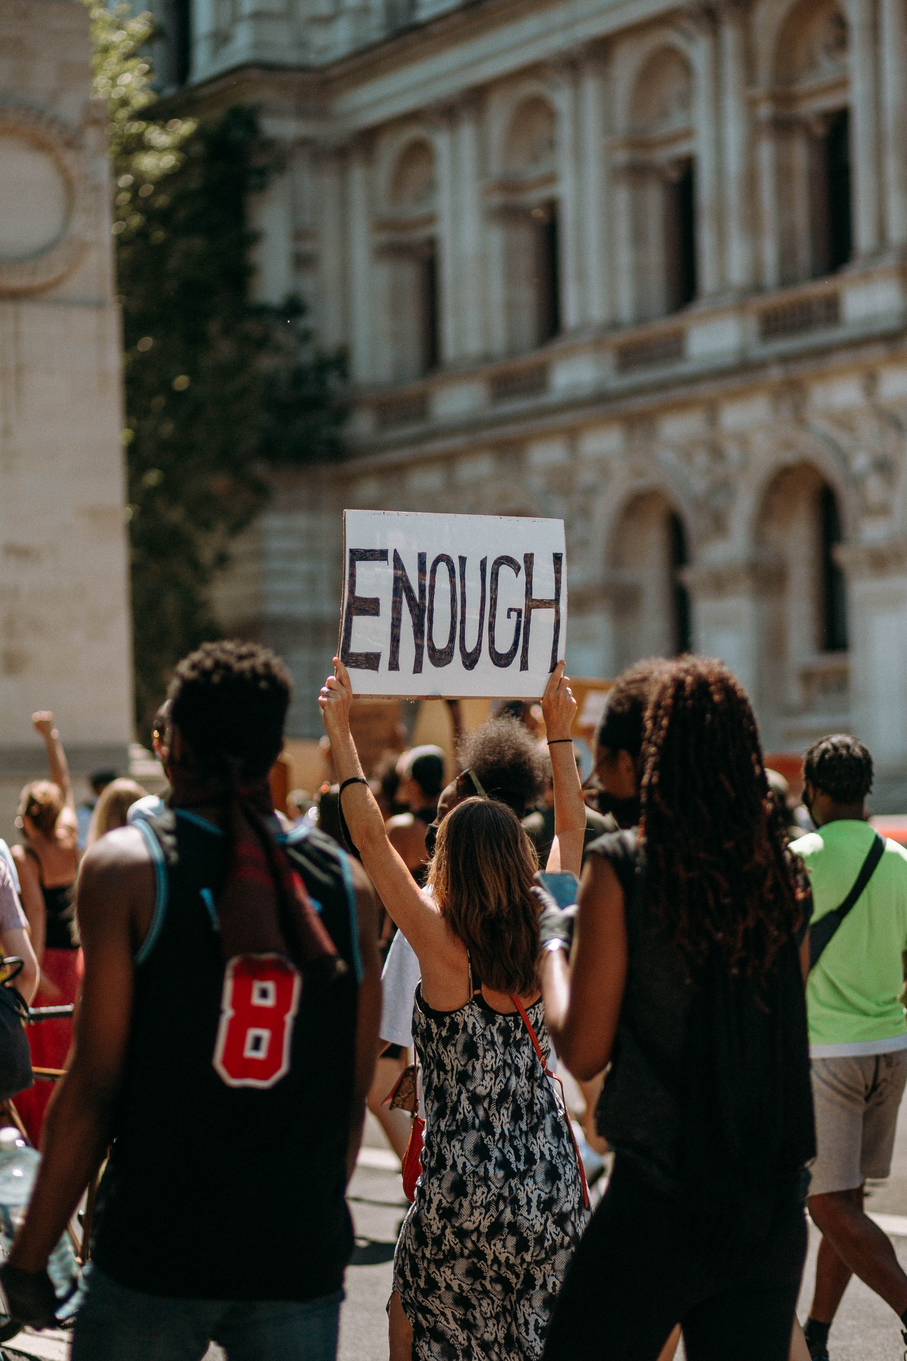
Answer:
<path fill-rule="evenodd" d="M 435 154 L 411 142 L 393 165 L 388 200 L 394 230 L 385 242 L 388 377 L 408 382 L 441 361 L 438 246 L 434 234 Z"/>

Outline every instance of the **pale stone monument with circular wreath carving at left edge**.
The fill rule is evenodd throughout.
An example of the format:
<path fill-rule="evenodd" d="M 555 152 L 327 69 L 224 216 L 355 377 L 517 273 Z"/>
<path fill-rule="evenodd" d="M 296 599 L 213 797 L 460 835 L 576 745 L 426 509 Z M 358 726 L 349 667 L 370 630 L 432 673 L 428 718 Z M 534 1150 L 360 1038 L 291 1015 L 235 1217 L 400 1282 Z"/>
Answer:
<path fill-rule="evenodd" d="M 46 773 L 132 736 L 120 317 L 106 110 L 78 0 L 0 5 L 0 836 Z"/>

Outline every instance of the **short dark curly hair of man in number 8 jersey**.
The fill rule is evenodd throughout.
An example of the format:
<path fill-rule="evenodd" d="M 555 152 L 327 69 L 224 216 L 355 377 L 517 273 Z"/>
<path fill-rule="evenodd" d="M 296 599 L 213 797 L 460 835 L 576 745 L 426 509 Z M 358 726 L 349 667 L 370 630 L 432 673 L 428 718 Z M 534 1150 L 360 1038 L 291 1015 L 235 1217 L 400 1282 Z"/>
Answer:
<path fill-rule="evenodd" d="M 292 695 L 286 666 L 257 642 L 203 642 L 177 666 L 167 698 L 170 717 L 208 770 L 238 762 L 239 772 L 267 774 L 283 747 Z"/>

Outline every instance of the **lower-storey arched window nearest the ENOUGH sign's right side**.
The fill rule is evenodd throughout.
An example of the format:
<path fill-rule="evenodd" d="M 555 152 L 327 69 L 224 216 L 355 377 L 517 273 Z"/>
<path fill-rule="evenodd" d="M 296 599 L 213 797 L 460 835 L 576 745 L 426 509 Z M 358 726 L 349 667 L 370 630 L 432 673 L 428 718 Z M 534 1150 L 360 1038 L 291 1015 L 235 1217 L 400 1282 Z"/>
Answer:
<path fill-rule="evenodd" d="M 616 670 L 639 657 L 670 657 L 692 646 L 689 561 L 683 521 L 658 491 L 636 497 L 620 516 L 612 558 Z"/>

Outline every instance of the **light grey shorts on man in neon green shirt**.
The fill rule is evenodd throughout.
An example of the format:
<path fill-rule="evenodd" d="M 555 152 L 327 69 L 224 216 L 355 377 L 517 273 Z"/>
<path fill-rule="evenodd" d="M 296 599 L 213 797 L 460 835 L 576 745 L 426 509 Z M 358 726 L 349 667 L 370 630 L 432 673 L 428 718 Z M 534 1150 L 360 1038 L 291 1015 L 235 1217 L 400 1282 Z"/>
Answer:
<path fill-rule="evenodd" d="M 907 1049 L 812 1060 L 817 1153 L 809 1195 L 888 1176 L 904 1083 Z"/>

